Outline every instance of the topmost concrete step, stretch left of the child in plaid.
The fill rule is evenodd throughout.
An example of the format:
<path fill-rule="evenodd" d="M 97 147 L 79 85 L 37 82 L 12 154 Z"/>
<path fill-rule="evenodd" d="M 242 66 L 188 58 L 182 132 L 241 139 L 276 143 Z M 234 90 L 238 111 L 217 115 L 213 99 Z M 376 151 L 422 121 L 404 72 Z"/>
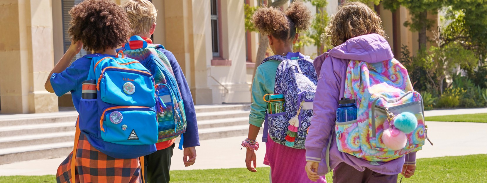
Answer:
<path fill-rule="evenodd" d="M 78 113 L 76 111 L 65 111 L 57 113 L 39 113 L 39 114 L 11 114 L 0 115 L 0 127 L 31 125 L 54 122 L 76 122 Z"/>

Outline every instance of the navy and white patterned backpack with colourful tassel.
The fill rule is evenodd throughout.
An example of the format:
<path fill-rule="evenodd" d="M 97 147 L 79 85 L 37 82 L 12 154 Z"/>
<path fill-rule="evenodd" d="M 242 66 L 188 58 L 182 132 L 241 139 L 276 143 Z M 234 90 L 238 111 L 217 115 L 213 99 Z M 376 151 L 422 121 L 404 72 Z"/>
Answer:
<path fill-rule="evenodd" d="M 267 142 L 268 133 L 274 142 L 304 149 L 318 83 L 313 60 L 299 52 L 288 52 L 286 57 L 268 57 L 262 64 L 271 60 L 281 61 L 276 72 L 274 93 L 284 96 L 285 112 L 266 114 L 262 142 Z"/>

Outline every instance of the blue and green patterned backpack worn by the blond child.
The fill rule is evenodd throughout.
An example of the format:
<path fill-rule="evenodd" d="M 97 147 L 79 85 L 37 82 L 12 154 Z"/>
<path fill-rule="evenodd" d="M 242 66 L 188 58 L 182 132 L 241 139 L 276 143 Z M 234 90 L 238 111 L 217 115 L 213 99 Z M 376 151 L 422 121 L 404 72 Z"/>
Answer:
<path fill-rule="evenodd" d="M 159 138 L 157 142 L 169 141 L 181 135 L 179 149 L 183 148 L 186 132 L 186 113 L 178 83 L 172 71 L 168 58 L 158 49 L 165 49 L 160 44 L 148 44 L 139 36 L 132 36 L 130 42 L 118 51 L 123 51 L 125 57 L 139 61 L 154 76 L 157 121 L 159 122 Z M 160 104 L 159 104 L 160 103 Z"/>

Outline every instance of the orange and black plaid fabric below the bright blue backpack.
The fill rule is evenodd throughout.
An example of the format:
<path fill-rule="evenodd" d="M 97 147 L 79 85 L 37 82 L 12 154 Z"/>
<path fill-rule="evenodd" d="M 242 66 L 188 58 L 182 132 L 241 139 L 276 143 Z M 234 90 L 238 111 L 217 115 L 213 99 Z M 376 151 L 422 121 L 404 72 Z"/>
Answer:
<path fill-rule="evenodd" d="M 71 183 L 73 152 L 59 165 L 57 183 Z M 84 134 L 76 147 L 75 183 L 142 183 L 140 162 L 134 159 L 116 159 L 96 150 Z"/>

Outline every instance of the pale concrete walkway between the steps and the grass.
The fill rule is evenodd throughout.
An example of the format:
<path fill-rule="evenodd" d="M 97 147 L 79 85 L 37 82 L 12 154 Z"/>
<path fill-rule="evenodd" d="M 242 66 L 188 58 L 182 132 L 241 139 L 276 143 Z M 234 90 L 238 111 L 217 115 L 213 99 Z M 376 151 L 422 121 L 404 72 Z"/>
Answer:
<path fill-rule="evenodd" d="M 486 112 L 487 108 L 435 110 L 427 111 L 426 116 Z M 426 142 L 423 150 L 418 152 L 417 158 L 487 154 L 487 123 L 427 122 L 427 124 L 428 136 L 434 145 L 431 146 Z M 175 149 L 171 170 L 245 167 L 245 149 L 240 150 L 240 143 L 244 139 L 245 136 L 201 141 L 201 146 L 196 148 L 196 163 L 189 167 L 185 167 L 183 164 L 183 151 Z M 258 137 L 259 141 L 261 139 L 262 135 Z M 262 163 L 265 143 L 260 143 L 260 145 L 257 151 L 258 167 L 265 166 Z M 63 160 L 64 157 L 2 164 L 0 165 L 0 176 L 56 174 L 57 166 Z"/>

